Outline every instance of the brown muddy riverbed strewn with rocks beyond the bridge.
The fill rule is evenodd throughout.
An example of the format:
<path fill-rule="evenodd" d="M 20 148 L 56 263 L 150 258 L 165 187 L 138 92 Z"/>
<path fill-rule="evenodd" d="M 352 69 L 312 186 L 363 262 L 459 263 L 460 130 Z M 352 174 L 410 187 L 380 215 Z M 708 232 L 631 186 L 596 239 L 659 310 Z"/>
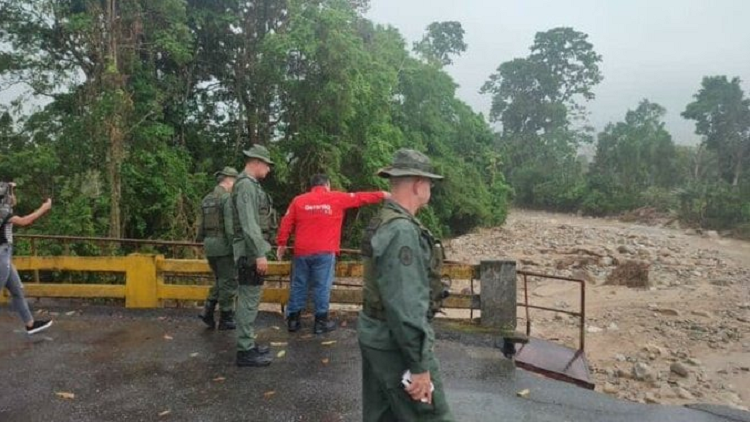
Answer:
<path fill-rule="evenodd" d="M 597 390 L 639 402 L 747 409 L 750 243 L 648 223 L 513 210 L 502 228 L 450 240 L 446 249 L 451 260 L 510 257 L 520 269 L 588 280 L 586 355 Z M 633 262 L 648 269 L 646 287 L 608 281 Z M 578 310 L 577 285 L 531 280 L 532 304 Z M 577 344 L 576 318 L 533 311 L 530 319 L 532 335 Z"/>

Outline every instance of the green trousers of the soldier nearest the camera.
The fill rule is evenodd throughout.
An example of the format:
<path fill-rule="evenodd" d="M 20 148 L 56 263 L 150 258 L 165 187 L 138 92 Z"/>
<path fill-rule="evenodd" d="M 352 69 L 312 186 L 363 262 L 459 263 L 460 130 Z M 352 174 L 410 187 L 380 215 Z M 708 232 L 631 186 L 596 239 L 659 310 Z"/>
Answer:
<path fill-rule="evenodd" d="M 362 352 L 364 422 L 455 422 L 445 400 L 440 363 L 436 358 L 429 364 L 435 391 L 432 392 L 432 404 L 427 404 L 412 400 L 401 386 L 401 376 L 407 365 L 399 351 L 372 349 L 361 343 L 359 349 Z"/>

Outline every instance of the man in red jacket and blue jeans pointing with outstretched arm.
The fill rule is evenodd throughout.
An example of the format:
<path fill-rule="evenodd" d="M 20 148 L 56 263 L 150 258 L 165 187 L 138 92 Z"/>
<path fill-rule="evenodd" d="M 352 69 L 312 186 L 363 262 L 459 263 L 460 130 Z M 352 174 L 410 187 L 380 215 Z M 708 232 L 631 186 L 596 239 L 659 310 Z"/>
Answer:
<path fill-rule="evenodd" d="M 294 233 L 294 260 L 292 285 L 286 308 L 290 332 L 300 329 L 300 313 L 305 307 L 307 286 L 311 284 L 315 302 L 315 334 L 336 329 L 328 319 L 336 255 L 340 252 L 341 224 L 348 208 L 375 204 L 390 197 L 389 192 L 337 192 L 331 191 L 331 182 L 325 174 L 310 179 L 310 192 L 296 196 L 286 215 L 281 219 L 276 239 L 276 257 L 281 260 L 286 252 L 289 236 Z"/>

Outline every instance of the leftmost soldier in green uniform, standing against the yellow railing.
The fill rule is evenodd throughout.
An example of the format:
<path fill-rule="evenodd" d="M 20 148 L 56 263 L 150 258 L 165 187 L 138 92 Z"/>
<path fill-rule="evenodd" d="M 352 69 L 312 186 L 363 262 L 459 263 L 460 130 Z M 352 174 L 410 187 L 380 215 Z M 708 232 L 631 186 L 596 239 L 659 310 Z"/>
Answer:
<path fill-rule="evenodd" d="M 237 296 L 237 274 L 232 253 L 232 204 L 231 192 L 237 178 L 237 170 L 224 167 L 214 173 L 218 184 L 201 201 L 201 226 L 198 240 L 203 241 L 203 250 L 216 282 L 208 291 L 208 297 L 200 318 L 211 329 L 216 327 L 214 311 L 219 305 L 219 330 L 234 330 L 234 298 Z"/>

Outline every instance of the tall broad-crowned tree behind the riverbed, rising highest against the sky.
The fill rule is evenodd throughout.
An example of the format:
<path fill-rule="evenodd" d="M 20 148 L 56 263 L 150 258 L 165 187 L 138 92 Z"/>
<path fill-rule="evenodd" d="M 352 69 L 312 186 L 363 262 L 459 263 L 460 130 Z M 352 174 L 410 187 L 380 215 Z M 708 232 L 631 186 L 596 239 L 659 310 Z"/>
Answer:
<path fill-rule="evenodd" d="M 591 136 L 575 123 L 584 115 L 579 102 L 602 80 L 587 39 L 572 28 L 539 32 L 528 57 L 502 63 L 482 87 L 492 95 L 490 119 L 502 125 L 497 147 L 519 204 L 571 210 L 580 200 L 578 148 Z"/>

